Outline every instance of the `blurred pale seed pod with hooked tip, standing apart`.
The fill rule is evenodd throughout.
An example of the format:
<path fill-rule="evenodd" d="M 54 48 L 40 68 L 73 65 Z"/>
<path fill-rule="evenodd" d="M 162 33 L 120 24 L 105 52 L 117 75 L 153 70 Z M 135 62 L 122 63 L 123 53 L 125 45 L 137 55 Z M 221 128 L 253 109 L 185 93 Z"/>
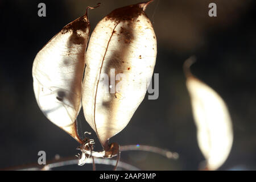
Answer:
<path fill-rule="evenodd" d="M 232 148 L 232 121 L 222 98 L 189 71 L 194 61 L 193 57 L 185 61 L 184 72 L 197 126 L 197 140 L 207 160 L 207 168 L 216 170 L 228 158 Z"/>

